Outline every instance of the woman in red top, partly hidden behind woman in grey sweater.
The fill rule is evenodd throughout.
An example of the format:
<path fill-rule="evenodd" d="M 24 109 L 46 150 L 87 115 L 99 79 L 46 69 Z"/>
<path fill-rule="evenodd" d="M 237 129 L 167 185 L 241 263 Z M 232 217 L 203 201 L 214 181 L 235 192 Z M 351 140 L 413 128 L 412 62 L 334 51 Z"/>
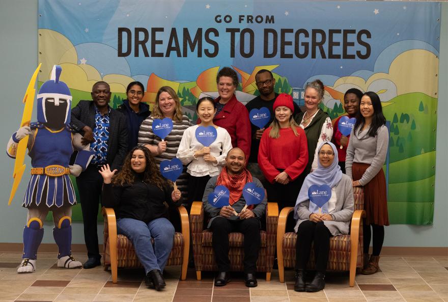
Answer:
<path fill-rule="evenodd" d="M 350 88 L 344 95 L 344 109 L 349 118 L 356 117 L 359 111 L 359 102 L 361 101 L 362 92 L 356 88 Z M 333 141 L 334 145 L 338 148 L 338 160 L 342 173 L 345 174 L 345 157 L 347 155 L 347 146 L 350 139 L 350 134 L 345 136 L 339 131 L 339 120 L 343 116 L 340 116 L 333 125 Z"/>

